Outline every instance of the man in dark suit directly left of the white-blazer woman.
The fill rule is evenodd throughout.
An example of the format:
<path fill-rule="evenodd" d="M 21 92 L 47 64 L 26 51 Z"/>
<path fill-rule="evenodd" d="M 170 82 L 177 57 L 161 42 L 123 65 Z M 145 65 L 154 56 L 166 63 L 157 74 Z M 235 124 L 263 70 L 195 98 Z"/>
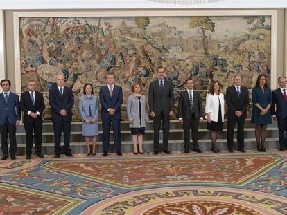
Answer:
<path fill-rule="evenodd" d="M 192 132 L 193 151 L 202 153 L 198 146 L 198 127 L 203 121 L 202 102 L 200 93 L 193 90 L 192 79 L 186 81 L 186 90 L 180 93 L 178 100 L 178 120 L 183 125 L 184 130 L 184 153 L 189 153 L 190 138 L 189 131 Z"/>

